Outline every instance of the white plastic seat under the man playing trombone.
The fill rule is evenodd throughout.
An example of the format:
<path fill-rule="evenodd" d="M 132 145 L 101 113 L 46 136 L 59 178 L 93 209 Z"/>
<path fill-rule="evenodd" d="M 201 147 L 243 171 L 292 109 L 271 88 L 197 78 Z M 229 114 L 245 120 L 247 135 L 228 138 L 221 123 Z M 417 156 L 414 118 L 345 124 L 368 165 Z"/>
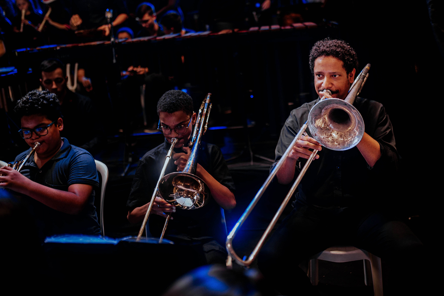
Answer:
<path fill-rule="evenodd" d="M 381 259 L 373 254 L 351 246 L 334 246 L 328 248 L 324 252 L 316 254 L 310 258 L 308 266 L 308 276 L 312 285 L 317 285 L 319 282 L 318 275 L 318 259 L 330 262 L 349 262 L 349 261 L 364 261 L 364 282 L 368 284 L 368 274 L 366 271 L 366 260 L 370 261 L 371 276 L 373 278 L 373 291 L 375 296 L 382 296 L 382 269 Z"/>

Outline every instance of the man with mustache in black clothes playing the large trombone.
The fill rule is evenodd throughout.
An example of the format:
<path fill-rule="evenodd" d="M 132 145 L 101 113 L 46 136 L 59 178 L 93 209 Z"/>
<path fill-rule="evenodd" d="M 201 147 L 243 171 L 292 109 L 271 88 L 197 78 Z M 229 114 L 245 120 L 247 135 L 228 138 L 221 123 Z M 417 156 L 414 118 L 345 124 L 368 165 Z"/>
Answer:
<path fill-rule="evenodd" d="M 320 98 L 346 98 L 358 66 L 353 48 L 341 40 L 318 41 L 309 64 Z M 319 100 L 291 112 L 273 167 Z M 365 122 L 356 147 L 344 151 L 322 147 L 307 129 L 276 174 L 280 184 L 292 184 L 312 150 L 318 151 L 298 186 L 293 211 L 259 255 L 260 270 L 282 295 L 318 295 L 297 265 L 334 245 L 352 245 L 393 263 L 393 273 L 402 273 L 397 288 L 412 284 L 420 273 L 422 243 L 392 217 L 383 198 L 399 161 L 392 124 L 380 103 L 358 97 L 354 107 Z"/>

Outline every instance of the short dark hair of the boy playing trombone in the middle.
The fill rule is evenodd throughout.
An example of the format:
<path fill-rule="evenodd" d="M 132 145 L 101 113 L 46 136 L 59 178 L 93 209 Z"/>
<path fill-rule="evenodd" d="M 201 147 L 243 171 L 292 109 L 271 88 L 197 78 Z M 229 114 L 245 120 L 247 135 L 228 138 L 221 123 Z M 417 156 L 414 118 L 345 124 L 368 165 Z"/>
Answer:
<path fill-rule="evenodd" d="M 184 111 L 185 114 L 191 116 L 193 114 L 193 99 L 183 91 L 169 90 L 157 102 L 157 114 L 176 111 Z"/>

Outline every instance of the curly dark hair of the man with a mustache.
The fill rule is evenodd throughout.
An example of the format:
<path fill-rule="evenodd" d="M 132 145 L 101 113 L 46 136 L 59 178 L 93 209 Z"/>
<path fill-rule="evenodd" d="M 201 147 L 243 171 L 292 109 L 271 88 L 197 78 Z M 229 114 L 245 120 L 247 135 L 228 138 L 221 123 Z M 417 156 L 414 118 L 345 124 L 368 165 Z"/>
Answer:
<path fill-rule="evenodd" d="M 314 74 L 314 62 L 322 56 L 332 56 L 343 63 L 345 72 L 349 74 L 353 69 L 358 69 L 358 56 L 355 50 L 343 40 L 326 38 L 319 40 L 310 51 L 310 70 Z"/>

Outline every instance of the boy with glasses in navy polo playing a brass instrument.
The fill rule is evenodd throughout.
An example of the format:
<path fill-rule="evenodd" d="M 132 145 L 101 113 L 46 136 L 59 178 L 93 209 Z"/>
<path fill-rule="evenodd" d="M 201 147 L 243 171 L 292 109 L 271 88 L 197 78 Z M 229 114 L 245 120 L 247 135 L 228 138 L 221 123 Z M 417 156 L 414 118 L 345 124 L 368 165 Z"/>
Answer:
<path fill-rule="evenodd" d="M 64 121 L 57 96 L 33 90 L 17 102 L 14 111 L 21 120 L 20 135 L 30 147 L 36 142 L 40 146 L 20 172 L 0 168 L 0 186 L 20 195 L 37 221 L 41 239 L 63 233 L 99 234 L 94 158 L 61 137 Z M 31 150 L 20 153 L 15 161 L 24 160 Z"/>

